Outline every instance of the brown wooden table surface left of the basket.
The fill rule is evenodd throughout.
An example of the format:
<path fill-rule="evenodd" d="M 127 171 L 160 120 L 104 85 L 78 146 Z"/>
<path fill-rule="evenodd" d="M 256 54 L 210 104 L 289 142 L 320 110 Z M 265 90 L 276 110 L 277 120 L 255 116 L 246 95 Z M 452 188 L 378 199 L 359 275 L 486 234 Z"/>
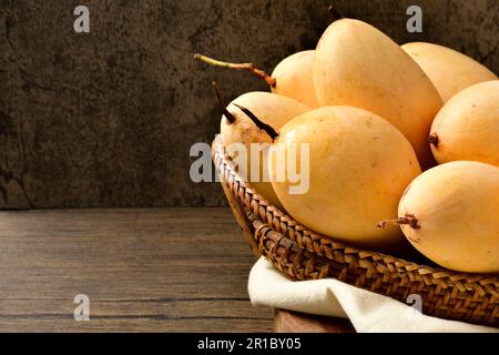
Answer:
<path fill-rule="evenodd" d="M 253 262 L 228 209 L 0 212 L 0 332 L 271 332 Z"/>

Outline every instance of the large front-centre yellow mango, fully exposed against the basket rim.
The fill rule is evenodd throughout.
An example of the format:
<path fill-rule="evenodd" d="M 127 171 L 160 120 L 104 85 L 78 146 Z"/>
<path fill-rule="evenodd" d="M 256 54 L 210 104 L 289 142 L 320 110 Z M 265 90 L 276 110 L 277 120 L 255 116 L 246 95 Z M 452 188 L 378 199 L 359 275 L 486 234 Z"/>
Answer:
<path fill-rule="evenodd" d="M 295 182 L 287 172 L 286 179 L 278 179 L 276 152 L 282 149 L 287 155 L 303 143 L 309 146 L 308 190 L 292 194 Z M 350 106 L 313 110 L 279 130 L 269 154 L 278 199 L 307 227 L 381 251 L 406 242 L 400 231 L 379 230 L 377 222 L 384 215 L 397 215 L 404 190 L 421 170 L 410 143 L 386 120 Z"/>

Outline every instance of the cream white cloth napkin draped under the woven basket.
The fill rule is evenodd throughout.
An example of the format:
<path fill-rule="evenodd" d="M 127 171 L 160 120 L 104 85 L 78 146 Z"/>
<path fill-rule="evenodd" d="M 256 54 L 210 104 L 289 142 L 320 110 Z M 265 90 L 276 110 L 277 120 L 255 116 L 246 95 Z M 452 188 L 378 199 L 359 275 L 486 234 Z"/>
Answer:
<path fill-rule="evenodd" d="M 359 333 L 499 333 L 499 328 L 422 315 L 408 304 L 333 278 L 294 282 L 264 257 L 249 273 L 248 293 L 254 306 L 349 318 Z"/>

